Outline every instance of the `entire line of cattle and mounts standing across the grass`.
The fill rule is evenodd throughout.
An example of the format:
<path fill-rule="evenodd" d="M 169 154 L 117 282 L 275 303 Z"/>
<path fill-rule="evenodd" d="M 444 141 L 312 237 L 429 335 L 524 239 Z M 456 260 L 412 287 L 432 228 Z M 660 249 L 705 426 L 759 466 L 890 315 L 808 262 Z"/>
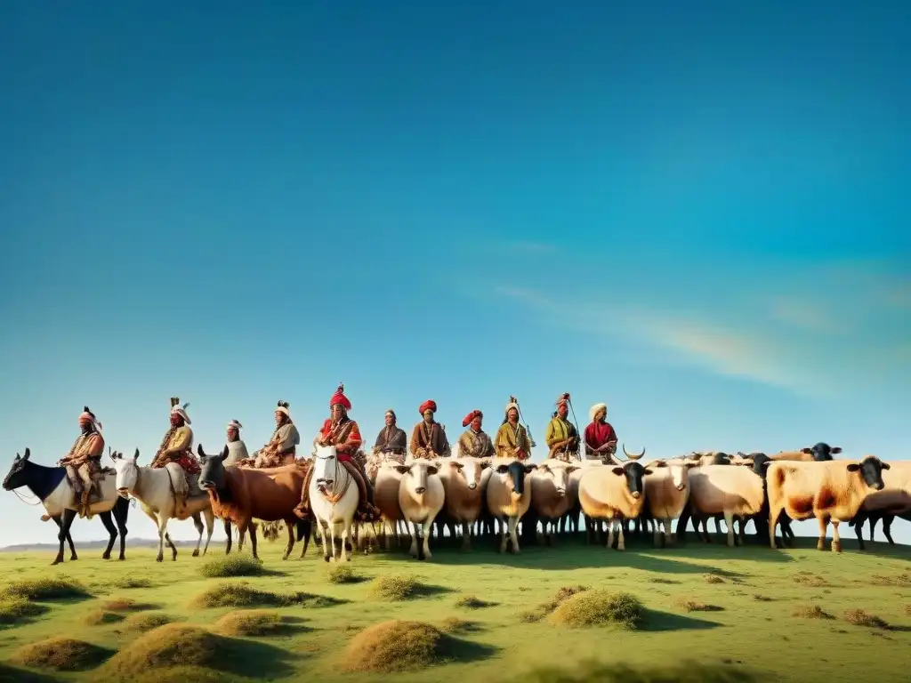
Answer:
<path fill-rule="evenodd" d="M 322 554 L 327 561 L 342 557 L 350 560 L 354 546 L 369 552 L 378 540 L 384 541 L 388 550 L 394 538 L 404 541 L 409 527 L 413 530 L 410 553 L 425 559 L 431 556 L 432 538 L 438 545 L 461 535 L 462 546 L 467 549 L 473 537 L 498 536 L 501 553 L 507 549 L 517 553 L 520 539 L 526 544 L 537 536 L 538 542 L 549 545 L 554 535 L 578 533 L 580 518 L 585 520 L 589 542 L 599 543 L 607 525 L 607 545 L 623 550 L 630 527 L 637 534 L 650 531 L 655 545 L 665 545 L 682 540 L 690 520 L 699 538 L 711 542 L 709 519 L 714 520 L 716 533 L 722 521 L 726 525 L 727 545 L 743 545 L 745 526 L 752 521 L 757 538 L 775 548 L 781 546 L 776 539 L 778 526 L 782 541 L 790 545 L 791 522 L 815 517 L 819 524 L 817 547 L 824 548 L 831 522 L 831 547 L 837 552 L 842 549 L 840 522 L 855 525 L 860 548 L 864 549 L 865 521 L 870 521 L 872 540 L 875 523 L 882 519 L 885 535 L 892 543 L 890 526 L 894 518 L 911 520 L 911 462 L 887 463 L 874 455 L 859 460 L 836 459 L 841 449 L 827 443 L 773 455 L 702 452 L 650 462 L 643 462 L 644 450 L 629 454 L 625 447 L 625 459 L 611 454 L 604 461 L 569 463 L 474 458 L 460 455 L 457 448 L 452 457 L 428 460 L 409 455 L 404 462 L 371 454 L 366 457 L 366 472 L 374 505 L 380 512 L 380 519 L 374 522 L 355 519 L 358 487 L 340 466 L 332 446 L 317 448 L 311 460 L 272 469 L 224 466 L 226 453 L 207 455 L 201 446 L 199 452 L 202 491 L 189 499 L 188 510 L 180 515 L 175 512 L 165 470 L 139 466 L 138 452 L 132 458 L 115 454 L 111 474 L 116 476 L 102 483 L 104 495 L 92 508 L 111 534 L 105 558 L 110 556 L 118 531 L 120 559 L 124 557 L 128 506 L 122 504 L 129 496 L 138 499 L 143 512 L 159 527 L 159 562 L 165 545 L 177 558 L 177 548 L 167 532 L 169 519 L 192 518 L 200 533 L 193 555 L 199 555 L 202 517 L 208 529 L 203 553 L 218 517 L 228 534 L 228 553 L 232 525 L 240 536 L 239 549 L 249 532 L 252 554 L 257 556 L 257 527 L 269 523 L 266 528 L 275 530 L 276 523 L 283 522 L 288 534 L 285 559 L 295 541 L 303 541 L 302 556 L 306 553 L 313 529 L 322 538 Z M 35 482 L 40 483 L 42 471 L 52 468 L 27 460 L 27 451 L 25 458 L 16 456 L 4 487 L 11 490 L 27 485 L 42 497 Z M 315 525 L 293 514 L 311 470 Z M 60 527 L 56 564 L 63 561 L 65 540 L 73 559 L 76 550 L 69 538 L 74 515 L 65 502 L 55 504 L 60 508 L 55 514 L 49 505 L 55 495 L 47 494 L 42 500 L 48 510 L 46 518 L 54 519 Z M 675 520 L 676 534 L 672 529 Z M 739 534 L 735 534 L 735 523 L 740 525 Z M 403 530 L 405 534 L 400 535 Z"/>

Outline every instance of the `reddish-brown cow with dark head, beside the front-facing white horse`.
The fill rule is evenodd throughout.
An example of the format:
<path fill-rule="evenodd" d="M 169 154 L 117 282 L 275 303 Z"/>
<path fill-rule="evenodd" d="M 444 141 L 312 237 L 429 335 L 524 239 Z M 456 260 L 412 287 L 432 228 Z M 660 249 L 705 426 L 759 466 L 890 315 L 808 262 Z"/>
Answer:
<path fill-rule="evenodd" d="M 237 525 L 243 543 L 243 537 L 250 531 L 250 543 L 253 557 L 256 553 L 256 528 L 252 520 L 278 522 L 281 520 L 288 529 L 288 547 L 281 559 L 286 560 L 294 547 L 294 530 L 297 540 L 303 539 L 303 557 L 310 545 L 310 522 L 302 521 L 294 515 L 293 510 L 301 502 L 301 490 L 309 463 L 284 465 L 271 469 L 247 469 L 245 467 L 225 467 L 228 457 L 228 446 L 220 455 L 207 455 L 200 443 L 200 488 L 209 492 L 212 512 L 223 520 L 230 520 Z"/>

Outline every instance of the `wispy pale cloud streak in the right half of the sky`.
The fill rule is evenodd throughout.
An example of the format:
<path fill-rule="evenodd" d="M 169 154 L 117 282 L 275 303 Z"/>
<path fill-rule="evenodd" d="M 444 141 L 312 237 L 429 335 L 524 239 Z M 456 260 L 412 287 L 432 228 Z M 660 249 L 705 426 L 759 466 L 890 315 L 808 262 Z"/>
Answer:
<path fill-rule="evenodd" d="M 821 273 L 804 272 L 793 284 L 761 295 L 748 283 L 740 292 L 728 288 L 714 298 L 693 298 L 690 307 L 660 301 L 660 290 L 636 287 L 611 287 L 601 299 L 559 301 L 533 288 L 496 291 L 538 311 L 542 321 L 631 339 L 662 361 L 670 354 L 715 374 L 804 395 L 834 395 L 895 382 L 896 367 L 907 367 L 902 360 L 909 350 L 900 334 L 906 327 L 896 319 L 905 313 L 889 313 L 889 302 L 882 300 L 895 282 L 871 271 L 853 274 L 848 282 L 827 279 L 818 286 L 813 283 Z M 680 292 L 665 293 L 680 299 Z"/>

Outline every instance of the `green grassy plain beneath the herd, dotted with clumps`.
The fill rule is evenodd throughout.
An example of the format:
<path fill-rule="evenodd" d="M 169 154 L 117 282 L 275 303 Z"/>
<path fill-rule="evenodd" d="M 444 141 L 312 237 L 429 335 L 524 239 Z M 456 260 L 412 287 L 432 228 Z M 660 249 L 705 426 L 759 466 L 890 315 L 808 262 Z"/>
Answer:
<path fill-rule="evenodd" d="M 376 674 L 346 671 L 346 647 L 364 628 L 390 619 L 424 622 L 458 644 L 449 650 L 449 663 L 394 674 L 404 681 L 607 681 L 614 675 L 627 681 L 733 681 L 750 680 L 750 672 L 755 679 L 803 683 L 907 681 L 911 548 L 870 544 L 859 553 L 852 541 L 845 541 L 844 554 L 837 555 L 815 550 L 812 539 L 799 538 L 798 544 L 798 549 L 773 552 L 757 545 L 732 549 L 690 540 L 658 550 L 640 541 L 617 552 L 564 539 L 556 547 L 526 546 L 520 556 L 500 556 L 486 546 L 467 553 L 439 548 L 425 563 L 395 551 L 355 554 L 352 574 L 336 577 L 341 582 L 330 580 L 332 566 L 322 561 L 318 548 L 311 546 L 303 560 L 282 562 L 280 543 L 260 545 L 267 574 L 230 578 L 207 578 L 200 570 L 224 557 L 221 546 L 200 558 L 181 548 L 177 562 L 162 564 L 147 549 L 128 548 L 126 562 L 105 562 L 95 551 L 84 551 L 77 562 L 56 567 L 48 566 L 50 554 L 2 554 L 0 681 L 101 681 L 115 679 L 119 671 L 125 678 L 157 683 L 311 677 L 357 683 L 374 680 Z M 403 579 L 386 586 L 392 588 L 392 599 L 380 595 L 374 584 L 381 576 Z M 10 585 L 29 579 L 74 580 L 87 595 L 29 600 L 20 590 L 16 597 Z M 412 579 L 419 585 L 410 584 Z M 220 598 L 210 595 L 210 602 L 240 596 L 249 603 L 241 608 L 257 611 L 236 614 L 239 607 L 203 607 L 201 596 L 225 584 L 233 588 L 221 589 Z M 266 596 L 271 605 L 256 604 L 257 596 L 263 596 L 255 591 L 241 595 L 239 585 L 277 596 Z M 639 598 L 645 607 L 640 627 L 556 622 L 548 612 L 557 607 L 559 589 L 569 586 Z M 412 594 L 402 596 L 409 588 Z M 396 591 L 402 599 L 394 599 Z M 301 592 L 308 595 L 297 595 Z M 548 602 L 549 607 L 542 607 Z M 42 607 L 28 607 L 35 605 Z M 858 625 L 865 616 L 881 622 Z M 149 619 L 150 624 L 143 623 Z M 185 651 L 173 648 L 138 664 L 120 662 L 118 657 L 127 658 L 122 652 L 114 655 L 142 637 L 144 629 L 167 620 L 206 629 L 191 632 L 196 636 L 221 634 L 220 640 L 200 640 Z M 173 637 L 173 628 L 152 633 Z M 92 668 L 23 668 L 23 661 L 32 660 L 23 659 L 21 648 L 51 637 L 96 646 L 84 655 L 62 656 L 65 664 L 84 657 L 81 666 Z M 423 636 L 414 637 L 414 647 L 422 647 Z M 214 647 L 220 654 L 213 659 L 194 654 L 193 647 Z M 118 666 L 105 664 L 112 656 Z M 599 672 L 595 665 L 582 665 L 590 659 L 606 667 Z M 728 668 L 718 678 L 699 676 L 691 665 L 665 678 L 648 673 L 636 678 L 642 668 L 689 661 Z M 621 672 L 624 664 L 632 670 Z M 560 678 L 540 670 L 548 667 L 570 674 Z M 532 669 L 537 673 L 532 675 Z"/>

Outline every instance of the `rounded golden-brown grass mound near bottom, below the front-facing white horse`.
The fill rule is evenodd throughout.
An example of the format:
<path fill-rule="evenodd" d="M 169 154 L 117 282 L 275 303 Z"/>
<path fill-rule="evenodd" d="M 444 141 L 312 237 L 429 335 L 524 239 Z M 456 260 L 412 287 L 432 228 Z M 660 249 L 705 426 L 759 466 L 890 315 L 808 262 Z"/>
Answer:
<path fill-rule="evenodd" d="M 354 636 L 345 652 L 345 668 L 383 674 L 414 671 L 455 658 L 454 645 L 454 638 L 430 624 L 395 619 Z"/>

